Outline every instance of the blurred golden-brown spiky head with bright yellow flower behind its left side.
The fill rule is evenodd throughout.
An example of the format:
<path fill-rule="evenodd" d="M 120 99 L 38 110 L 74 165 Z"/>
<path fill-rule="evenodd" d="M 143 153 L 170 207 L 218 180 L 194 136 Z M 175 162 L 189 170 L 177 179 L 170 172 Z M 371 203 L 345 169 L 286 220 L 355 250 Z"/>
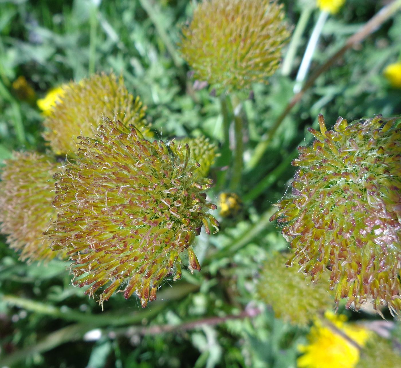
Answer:
<path fill-rule="evenodd" d="M 145 107 L 139 97 L 128 92 L 123 78 L 117 79 L 113 73 L 69 83 L 59 99 L 43 123 L 43 137 L 57 155 L 75 152 L 77 137 L 92 137 L 92 127 L 99 126 L 103 116 L 117 117 L 124 125 L 135 124 L 142 133 L 149 133 Z"/>

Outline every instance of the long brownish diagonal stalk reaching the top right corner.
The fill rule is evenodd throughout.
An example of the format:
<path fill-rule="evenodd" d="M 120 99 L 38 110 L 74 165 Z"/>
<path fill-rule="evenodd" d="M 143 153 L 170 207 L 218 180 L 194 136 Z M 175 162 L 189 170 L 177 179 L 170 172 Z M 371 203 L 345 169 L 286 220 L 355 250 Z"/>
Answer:
<path fill-rule="evenodd" d="M 302 87 L 301 91 L 296 93 L 294 97 L 292 97 L 291 101 L 288 105 L 284 108 L 282 114 L 277 118 L 274 122 L 271 129 L 262 137 L 261 141 L 257 144 L 251 159 L 249 160 L 246 171 L 250 171 L 257 166 L 261 158 L 263 157 L 265 151 L 269 147 L 271 140 L 273 139 L 274 133 L 277 131 L 281 123 L 284 121 L 286 116 L 291 112 L 292 108 L 302 99 L 305 92 L 308 91 L 310 87 L 312 87 L 318 79 L 320 75 L 326 72 L 330 67 L 332 67 L 338 59 L 344 55 L 344 53 L 352 48 L 354 45 L 358 44 L 359 42 L 363 41 L 369 34 L 377 31 L 380 26 L 391 16 L 395 14 L 401 8 L 401 0 L 394 0 L 390 4 L 384 6 L 373 16 L 360 30 L 354 33 L 352 36 L 348 38 L 345 42 L 344 46 L 338 50 L 334 55 L 328 58 L 326 63 L 320 65 L 320 67 L 316 68 L 314 73 L 309 77 L 309 79 Z"/>

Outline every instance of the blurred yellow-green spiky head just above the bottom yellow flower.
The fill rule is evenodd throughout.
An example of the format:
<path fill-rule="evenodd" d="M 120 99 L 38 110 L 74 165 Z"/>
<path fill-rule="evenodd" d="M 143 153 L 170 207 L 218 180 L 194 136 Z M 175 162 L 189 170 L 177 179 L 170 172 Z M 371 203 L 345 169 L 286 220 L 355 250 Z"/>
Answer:
<path fill-rule="evenodd" d="M 334 293 L 329 290 L 328 271 L 316 283 L 310 276 L 286 267 L 288 255 L 276 253 L 263 265 L 258 295 L 274 314 L 292 324 L 305 326 L 334 306 Z"/>

